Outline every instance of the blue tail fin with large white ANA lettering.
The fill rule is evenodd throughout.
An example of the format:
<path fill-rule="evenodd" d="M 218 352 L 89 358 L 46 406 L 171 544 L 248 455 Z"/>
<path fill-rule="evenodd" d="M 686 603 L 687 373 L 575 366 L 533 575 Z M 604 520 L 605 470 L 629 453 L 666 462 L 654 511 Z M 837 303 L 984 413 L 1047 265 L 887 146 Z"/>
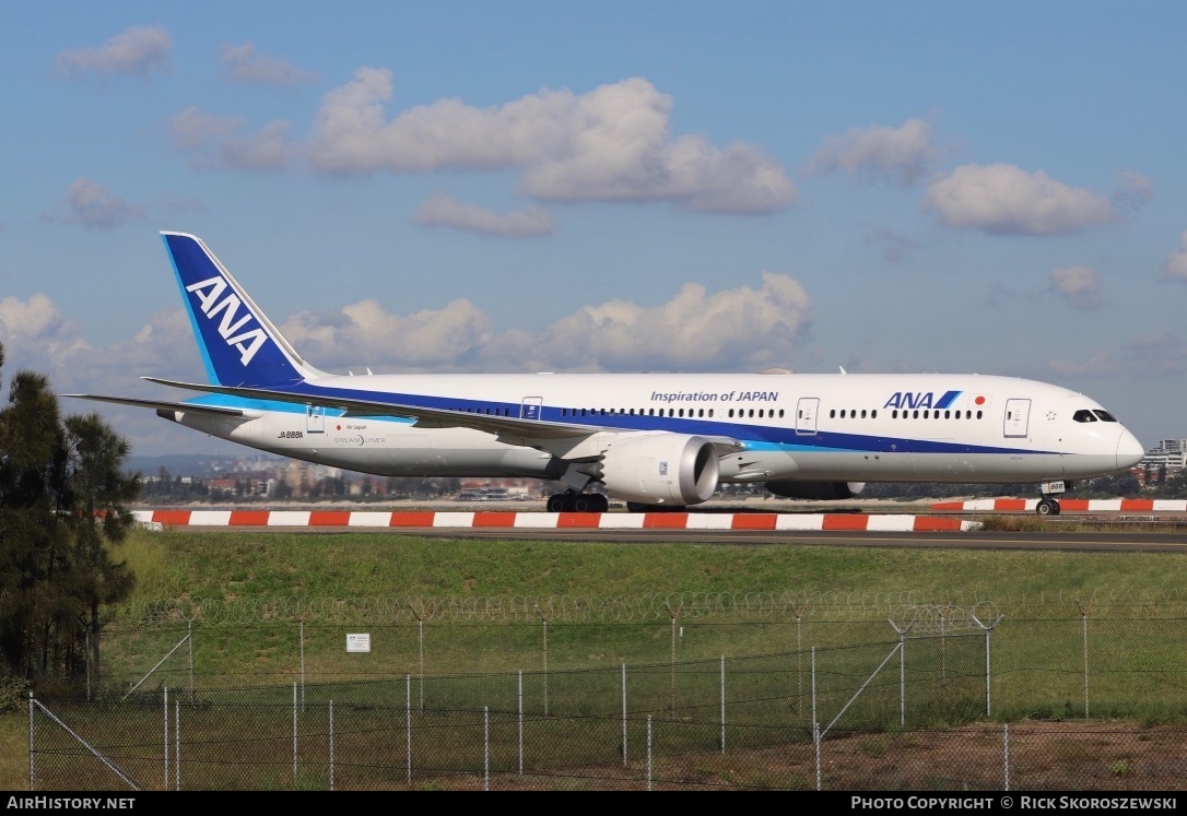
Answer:
<path fill-rule="evenodd" d="M 300 358 L 201 238 L 165 231 L 161 237 L 211 383 L 284 388 L 324 376 Z"/>

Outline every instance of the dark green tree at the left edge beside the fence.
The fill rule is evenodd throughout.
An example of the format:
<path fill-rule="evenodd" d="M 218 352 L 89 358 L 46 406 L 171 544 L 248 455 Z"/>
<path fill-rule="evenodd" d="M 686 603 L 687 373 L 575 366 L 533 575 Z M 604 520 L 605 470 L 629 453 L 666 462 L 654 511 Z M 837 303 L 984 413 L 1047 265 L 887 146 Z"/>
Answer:
<path fill-rule="evenodd" d="M 0 348 L 0 365 L 4 352 Z M 77 676 L 87 632 L 133 575 L 113 557 L 140 476 L 97 414 L 63 417 L 49 380 L 19 371 L 0 409 L 0 674 Z M 93 676 L 99 638 L 91 637 Z"/>

